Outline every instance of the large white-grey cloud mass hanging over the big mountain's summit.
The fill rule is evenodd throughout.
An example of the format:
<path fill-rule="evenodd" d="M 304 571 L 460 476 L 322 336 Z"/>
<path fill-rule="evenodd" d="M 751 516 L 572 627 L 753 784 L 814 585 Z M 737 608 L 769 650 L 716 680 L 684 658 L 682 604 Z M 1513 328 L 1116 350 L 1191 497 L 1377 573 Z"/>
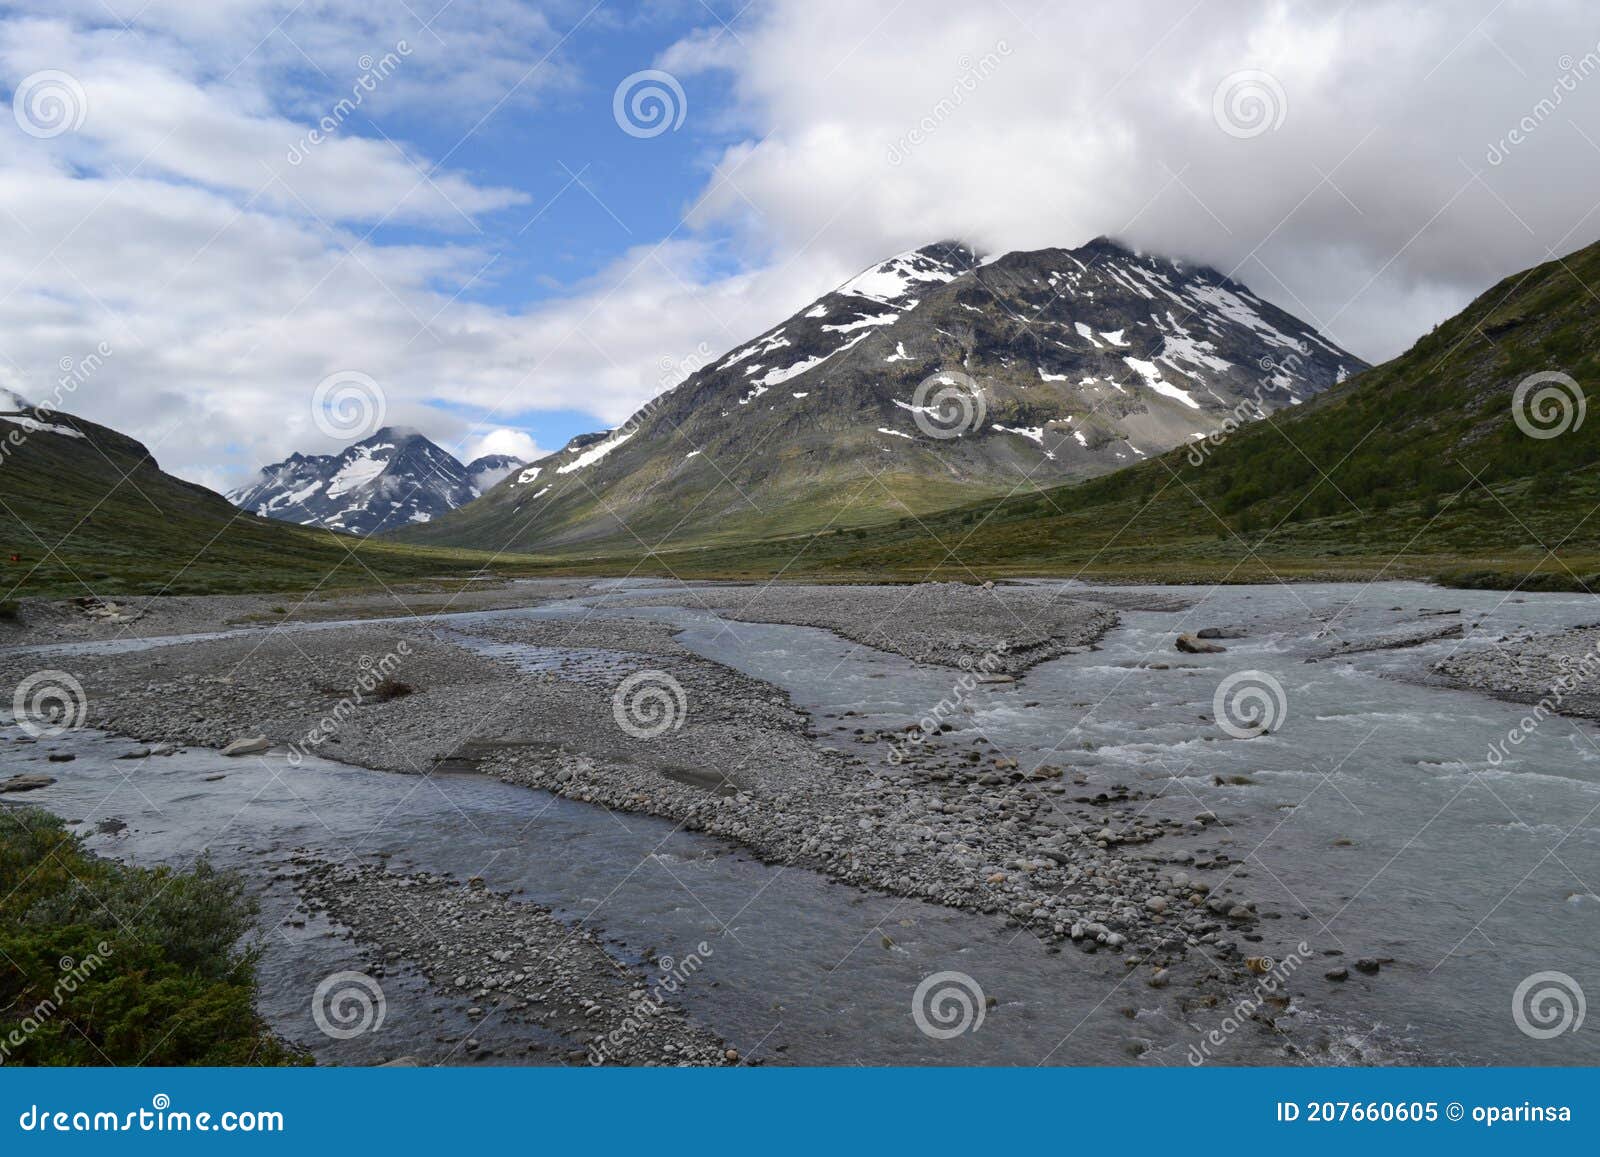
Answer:
<path fill-rule="evenodd" d="M 1387 357 L 1499 277 L 1600 235 L 1600 149 L 1579 131 L 1600 122 L 1600 75 L 1486 162 L 1550 96 L 1562 56 L 1597 40 L 1592 6 L 1571 0 L 861 0 L 848 21 L 782 0 L 738 40 L 694 37 L 664 59 L 730 69 L 758 138 L 720 160 L 702 226 L 845 264 L 946 235 L 1040 248 L 1115 234 L 1237 267 Z M 1246 69 L 1278 82 L 1285 115 L 1240 139 L 1213 96 Z"/>

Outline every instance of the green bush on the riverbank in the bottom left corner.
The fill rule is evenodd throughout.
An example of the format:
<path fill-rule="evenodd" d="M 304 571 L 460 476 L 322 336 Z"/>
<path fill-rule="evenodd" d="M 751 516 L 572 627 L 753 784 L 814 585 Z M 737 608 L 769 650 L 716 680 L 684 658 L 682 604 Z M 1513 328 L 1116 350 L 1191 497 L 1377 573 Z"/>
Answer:
<path fill-rule="evenodd" d="M 256 904 L 234 872 L 86 855 L 56 816 L 0 818 L 0 1061 L 302 1064 L 254 1010 Z"/>

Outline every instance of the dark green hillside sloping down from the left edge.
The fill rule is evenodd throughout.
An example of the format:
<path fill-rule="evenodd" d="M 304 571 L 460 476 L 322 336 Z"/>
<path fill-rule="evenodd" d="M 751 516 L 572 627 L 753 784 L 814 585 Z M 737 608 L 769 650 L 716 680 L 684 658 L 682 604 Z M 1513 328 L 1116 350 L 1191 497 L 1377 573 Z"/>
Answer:
<path fill-rule="evenodd" d="M 326 591 L 488 562 L 253 518 L 139 442 L 0 392 L 0 627 L 19 595 Z"/>

